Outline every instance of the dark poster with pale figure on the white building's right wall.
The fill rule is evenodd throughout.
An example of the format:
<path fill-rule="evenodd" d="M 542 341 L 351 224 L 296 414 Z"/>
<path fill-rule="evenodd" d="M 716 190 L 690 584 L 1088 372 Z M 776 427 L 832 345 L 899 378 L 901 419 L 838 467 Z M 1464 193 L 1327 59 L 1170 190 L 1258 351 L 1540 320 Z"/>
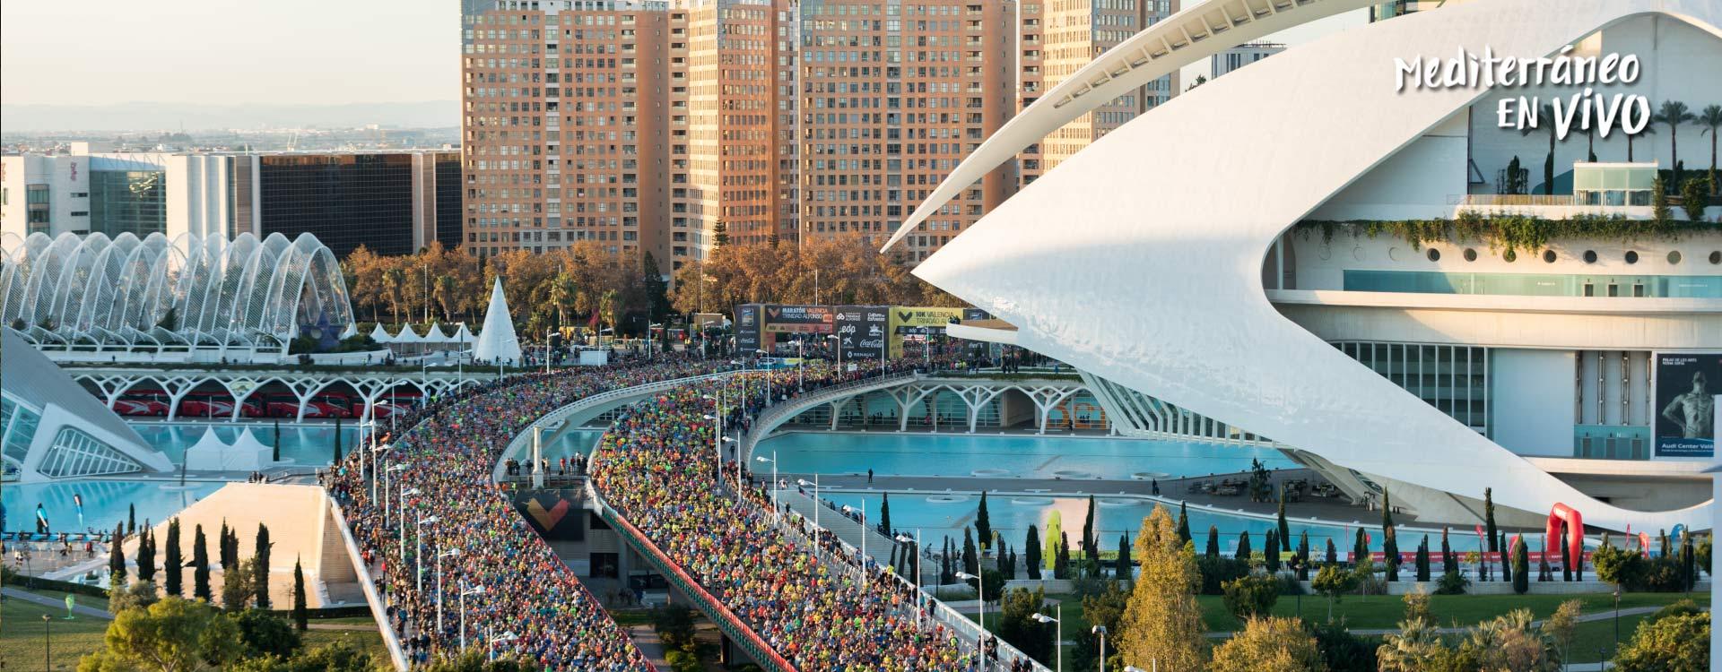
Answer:
<path fill-rule="evenodd" d="M 1715 457 L 1722 352 L 1657 354 L 1657 457 Z"/>

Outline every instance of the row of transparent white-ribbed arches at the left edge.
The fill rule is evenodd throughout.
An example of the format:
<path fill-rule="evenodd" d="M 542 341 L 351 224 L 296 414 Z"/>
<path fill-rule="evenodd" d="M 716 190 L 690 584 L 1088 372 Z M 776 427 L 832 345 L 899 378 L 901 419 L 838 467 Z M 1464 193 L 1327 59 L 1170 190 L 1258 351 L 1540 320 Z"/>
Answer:
<path fill-rule="evenodd" d="M 284 351 L 307 327 L 353 323 L 341 266 L 310 234 L 7 235 L 0 260 L 0 321 L 50 351 Z"/>

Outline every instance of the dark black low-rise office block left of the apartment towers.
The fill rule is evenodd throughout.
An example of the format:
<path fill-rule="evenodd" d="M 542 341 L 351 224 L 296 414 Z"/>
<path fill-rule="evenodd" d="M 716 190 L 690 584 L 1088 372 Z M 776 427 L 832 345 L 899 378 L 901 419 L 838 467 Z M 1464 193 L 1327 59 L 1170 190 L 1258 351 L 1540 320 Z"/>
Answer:
<path fill-rule="evenodd" d="M 260 156 L 257 180 L 265 237 L 312 234 L 336 258 L 360 244 L 377 254 L 417 251 L 412 155 L 270 155 Z M 458 179 L 453 184 L 460 189 Z M 453 210 L 458 218 L 458 203 Z M 441 229 L 439 222 L 439 237 Z"/>

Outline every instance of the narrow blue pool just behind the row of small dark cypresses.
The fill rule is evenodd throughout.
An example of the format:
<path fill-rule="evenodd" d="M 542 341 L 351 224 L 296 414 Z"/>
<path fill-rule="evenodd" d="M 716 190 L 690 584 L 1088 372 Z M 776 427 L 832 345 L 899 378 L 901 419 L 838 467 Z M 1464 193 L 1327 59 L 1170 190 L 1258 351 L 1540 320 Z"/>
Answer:
<path fill-rule="evenodd" d="M 825 493 L 823 498 L 837 502 L 837 505 L 864 507 L 868 521 L 878 521 L 878 505 L 882 500 L 880 493 Z M 975 526 L 975 514 L 978 507 L 978 495 L 894 492 L 890 493 L 890 524 L 897 531 L 907 531 L 909 535 L 914 535 L 914 531 L 920 529 L 921 541 L 930 548 L 940 547 L 944 536 L 951 536 L 954 543 L 961 545 L 963 529 Z M 1150 510 L 1154 510 L 1154 502 L 1149 500 L 1095 497 L 1093 519 L 1099 528 L 1095 536 L 1099 536 L 1100 547 L 1106 550 L 1116 550 L 1118 538 L 1123 535 L 1135 540 L 1137 533 L 1142 529 L 1142 519 L 1147 517 Z M 1173 516 L 1178 516 L 1176 505 L 1169 510 Z M 1028 526 L 1031 524 L 1038 528 L 1042 541 L 1047 541 L 1047 522 L 1054 512 L 1059 514 L 1061 528 L 1069 536 L 1069 541 L 1073 545 L 1080 541 L 1083 517 L 1088 514 L 1087 497 L 987 497 L 987 517 L 992 521 L 992 528 L 997 529 L 999 536 L 1009 543 L 1013 550 L 1018 550 L 1018 553 L 1021 553 Z M 1292 528 L 1292 543 L 1295 545 L 1298 535 L 1307 531 L 1310 552 L 1317 557 L 1326 552 L 1329 538 L 1343 557 L 1343 553 L 1352 548 L 1357 535 L 1357 526 L 1310 524 L 1298 522 L 1297 519 L 1288 522 Z M 1379 521 L 1371 519 L 1366 522 L 1364 529 L 1371 536 L 1371 548 L 1381 550 Z M 1262 550 L 1262 545 L 1267 543 L 1267 529 L 1274 528 L 1276 522 L 1273 519 L 1224 516 L 1190 509 L 1190 533 L 1195 536 L 1199 553 L 1207 547 L 1209 526 L 1219 528 L 1219 548 L 1223 553 L 1231 553 L 1238 548 L 1238 538 L 1245 531 L 1250 533 L 1250 547 Z M 1400 528 L 1400 548 L 1415 548 L 1424 533 L 1424 529 Z M 1433 548 L 1440 548 L 1440 531 L 1429 533 L 1429 545 Z M 1459 528 L 1452 529 L 1452 545 L 1457 552 L 1477 550 L 1477 536 L 1472 533 L 1464 533 Z M 1541 540 L 1536 538 L 1529 541 L 1529 545 L 1531 550 L 1538 550 L 1541 548 Z"/>

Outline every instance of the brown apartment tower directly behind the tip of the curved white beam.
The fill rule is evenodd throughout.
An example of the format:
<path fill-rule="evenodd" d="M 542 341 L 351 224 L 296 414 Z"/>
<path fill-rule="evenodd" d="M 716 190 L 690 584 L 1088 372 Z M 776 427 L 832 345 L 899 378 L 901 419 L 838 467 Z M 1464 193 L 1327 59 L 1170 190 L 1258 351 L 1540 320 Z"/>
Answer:
<path fill-rule="evenodd" d="M 883 242 L 1016 108 L 1016 3 L 804 0 L 801 232 Z M 925 260 L 1016 187 L 1004 167 L 909 237 Z"/>

